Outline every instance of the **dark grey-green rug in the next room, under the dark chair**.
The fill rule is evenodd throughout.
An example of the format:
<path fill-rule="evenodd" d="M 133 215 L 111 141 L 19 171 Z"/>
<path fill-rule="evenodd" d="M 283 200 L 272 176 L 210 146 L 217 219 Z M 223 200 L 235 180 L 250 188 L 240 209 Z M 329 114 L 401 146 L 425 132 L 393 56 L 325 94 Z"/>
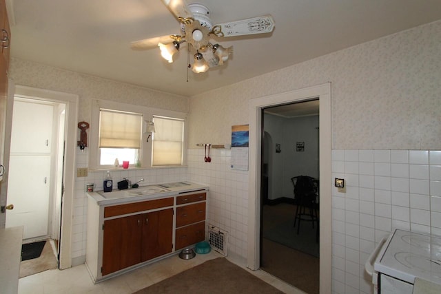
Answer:
<path fill-rule="evenodd" d="M 280 224 L 263 229 L 263 238 L 283 244 L 292 249 L 302 251 L 316 257 L 320 255 L 320 246 L 317 241 L 317 227 L 312 228 L 311 222 L 302 222 L 297 234 L 297 226 L 294 228 L 293 220 L 287 220 Z"/>

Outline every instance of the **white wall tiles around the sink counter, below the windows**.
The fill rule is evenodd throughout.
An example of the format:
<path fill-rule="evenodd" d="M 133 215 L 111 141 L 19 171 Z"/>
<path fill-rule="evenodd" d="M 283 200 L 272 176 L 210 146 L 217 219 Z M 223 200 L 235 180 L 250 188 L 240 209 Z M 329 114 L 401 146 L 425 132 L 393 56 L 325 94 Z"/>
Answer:
<path fill-rule="evenodd" d="M 209 186 L 209 222 L 229 234 L 229 254 L 247 256 L 248 222 L 248 171 L 234 171 L 230 168 L 231 150 L 213 149 L 211 162 L 204 161 L 203 149 L 188 150 L 188 165 L 167 169 L 121 169 L 111 171 L 116 182 L 129 178 L 132 182 L 144 178 L 144 184 L 190 180 Z M 88 149 L 77 151 L 76 167 L 88 167 Z M 76 178 L 72 224 L 73 264 L 85 261 L 85 241 L 87 230 L 87 196 L 85 185 L 95 183 L 96 190 L 103 189 L 105 171 L 89 172 L 86 178 Z"/>

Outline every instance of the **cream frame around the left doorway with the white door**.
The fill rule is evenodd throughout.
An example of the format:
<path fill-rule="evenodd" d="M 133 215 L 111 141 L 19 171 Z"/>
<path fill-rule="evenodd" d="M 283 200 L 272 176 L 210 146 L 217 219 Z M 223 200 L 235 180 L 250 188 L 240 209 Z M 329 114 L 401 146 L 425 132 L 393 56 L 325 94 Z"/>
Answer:
<path fill-rule="evenodd" d="M 61 235 L 59 240 L 59 269 L 68 269 L 72 266 L 72 207 L 74 200 L 74 182 L 75 182 L 75 158 L 76 158 L 76 140 L 78 103 L 79 96 L 76 94 L 44 90 L 22 85 L 14 85 L 14 81 L 8 81 L 8 103 L 6 109 L 6 129 L 5 129 L 5 176 L 1 185 L 1 197 L 5 198 L 8 191 L 8 166 L 10 156 L 10 139 L 12 131 L 12 110 L 14 105 L 14 95 L 28 98 L 39 98 L 46 101 L 64 103 L 65 109 L 65 165 L 64 165 L 64 195 L 61 207 Z M 74 134 L 72 136 L 72 134 Z M 4 218 L 5 214 L 1 216 Z"/>

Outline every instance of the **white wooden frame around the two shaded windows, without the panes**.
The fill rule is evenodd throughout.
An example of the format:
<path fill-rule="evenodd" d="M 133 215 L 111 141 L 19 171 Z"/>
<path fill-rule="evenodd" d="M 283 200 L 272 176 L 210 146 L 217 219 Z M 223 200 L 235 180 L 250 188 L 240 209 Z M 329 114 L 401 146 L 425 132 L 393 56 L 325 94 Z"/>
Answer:
<path fill-rule="evenodd" d="M 143 136 L 141 140 L 141 167 L 137 169 L 163 168 L 163 167 L 183 167 L 187 165 L 187 128 L 186 118 L 187 114 L 184 112 L 175 112 L 173 110 L 158 109 L 153 107 L 145 107 L 140 105 L 132 105 L 127 103 L 119 103 L 105 100 L 92 100 L 92 117 L 90 121 L 90 138 L 89 138 L 89 169 L 93 170 L 108 170 L 121 169 L 114 166 L 100 165 L 100 149 L 99 149 L 99 113 L 100 109 L 112 109 L 121 112 L 133 112 L 142 114 L 143 120 L 153 120 L 153 116 L 165 116 L 169 118 L 178 118 L 184 120 L 184 142 L 183 142 L 183 163 L 182 165 L 165 165 L 152 167 L 152 137 L 145 136 L 146 124 L 143 123 Z M 134 167 L 130 166 L 130 169 Z"/>

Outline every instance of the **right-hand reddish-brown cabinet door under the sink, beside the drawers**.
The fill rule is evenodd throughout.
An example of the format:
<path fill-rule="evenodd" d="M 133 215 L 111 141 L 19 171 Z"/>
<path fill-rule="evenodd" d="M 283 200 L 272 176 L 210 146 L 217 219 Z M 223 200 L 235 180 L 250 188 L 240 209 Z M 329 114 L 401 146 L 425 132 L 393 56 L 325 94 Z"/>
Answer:
<path fill-rule="evenodd" d="M 143 214 L 143 239 L 141 260 L 151 260 L 172 252 L 173 209 Z"/>

